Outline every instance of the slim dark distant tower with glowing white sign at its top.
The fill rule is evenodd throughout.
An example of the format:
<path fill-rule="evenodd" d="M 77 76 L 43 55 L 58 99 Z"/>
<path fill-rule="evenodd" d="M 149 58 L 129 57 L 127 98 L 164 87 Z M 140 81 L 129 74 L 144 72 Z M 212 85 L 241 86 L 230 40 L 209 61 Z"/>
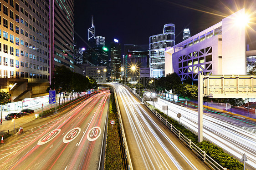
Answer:
<path fill-rule="evenodd" d="M 110 60 L 112 79 L 118 80 L 121 78 L 121 44 L 116 39 L 110 44 Z"/>

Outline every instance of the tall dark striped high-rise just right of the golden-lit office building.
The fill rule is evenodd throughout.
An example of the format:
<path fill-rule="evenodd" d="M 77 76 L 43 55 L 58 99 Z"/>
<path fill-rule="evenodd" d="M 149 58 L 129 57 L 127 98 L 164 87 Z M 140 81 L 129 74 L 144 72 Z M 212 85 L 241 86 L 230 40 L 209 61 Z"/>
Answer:
<path fill-rule="evenodd" d="M 74 70 L 74 0 L 50 0 L 50 66 Z"/>

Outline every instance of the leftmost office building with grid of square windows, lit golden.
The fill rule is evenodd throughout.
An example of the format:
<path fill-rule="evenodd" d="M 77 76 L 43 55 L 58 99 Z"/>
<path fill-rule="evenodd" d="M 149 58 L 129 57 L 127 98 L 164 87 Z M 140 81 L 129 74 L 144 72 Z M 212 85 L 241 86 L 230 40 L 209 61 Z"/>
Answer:
<path fill-rule="evenodd" d="M 0 85 L 11 102 L 49 86 L 48 0 L 0 1 Z"/>

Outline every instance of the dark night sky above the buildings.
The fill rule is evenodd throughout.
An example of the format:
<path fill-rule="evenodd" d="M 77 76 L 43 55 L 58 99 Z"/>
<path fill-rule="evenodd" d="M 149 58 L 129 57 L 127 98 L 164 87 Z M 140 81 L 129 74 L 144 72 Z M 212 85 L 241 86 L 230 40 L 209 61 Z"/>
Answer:
<path fill-rule="evenodd" d="M 246 4 L 244 2 L 246 1 Z M 149 36 L 163 33 L 164 24 L 175 24 L 176 44 L 184 28 L 193 36 L 246 7 L 251 15 L 247 29 L 250 50 L 256 50 L 256 0 L 74 0 L 75 41 L 86 47 L 87 29 L 94 17 L 95 36 L 114 38 L 123 44 L 149 44 Z M 247 33 L 246 33 L 247 34 Z"/>

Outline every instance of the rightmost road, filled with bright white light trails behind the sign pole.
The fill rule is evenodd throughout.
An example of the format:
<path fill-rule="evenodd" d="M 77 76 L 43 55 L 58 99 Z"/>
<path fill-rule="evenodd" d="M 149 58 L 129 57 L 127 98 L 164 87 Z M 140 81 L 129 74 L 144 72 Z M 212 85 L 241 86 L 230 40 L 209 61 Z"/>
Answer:
<path fill-rule="evenodd" d="M 153 104 L 153 102 L 148 102 Z M 198 132 L 198 112 L 187 108 L 175 105 L 167 100 L 158 98 L 158 102 L 154 102 L 155 107 L 162 111 L 163 105 L 168 105 L 168 116 L 179 121 L 178 113 L 181 113 L 180 123 Z M 163 111 L 164 112 L 164 111 Z M 167 111 L 165 111 L 167 114 Z M 234 122 L 233 122 L 234 123 Z M 256 123 L 244 122 L 243 125 L 256 129 Z M 246 168 L 256 170 L 256 133 L 246 130 L 245 127 L 240 127 L 221 121 L 210 115 L 203 115 L 203 137 L 220 146 L 231 155 L 234 155 L 238 160 L 241 160 L 245 153 L 248 161 Z"/>

